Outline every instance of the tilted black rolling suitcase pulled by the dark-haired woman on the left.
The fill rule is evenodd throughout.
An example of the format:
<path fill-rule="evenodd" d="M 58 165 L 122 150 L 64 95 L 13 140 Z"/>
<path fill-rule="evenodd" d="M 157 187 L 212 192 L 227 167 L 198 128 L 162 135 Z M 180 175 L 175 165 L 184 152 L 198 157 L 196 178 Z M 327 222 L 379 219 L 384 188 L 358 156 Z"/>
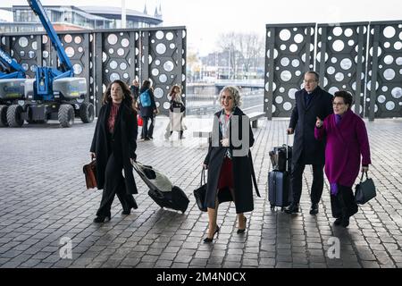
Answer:
<path fill-rule="evenodd" d="M 149 197 L 154 199 L 158 206 L 172 208 L 182 213 L 187 210 L 189 200 L 186 194 L 178 186 L 173 186 L 162 172 L 139 162 L 134 162 L 133 167 L 147 184 Z"/>

